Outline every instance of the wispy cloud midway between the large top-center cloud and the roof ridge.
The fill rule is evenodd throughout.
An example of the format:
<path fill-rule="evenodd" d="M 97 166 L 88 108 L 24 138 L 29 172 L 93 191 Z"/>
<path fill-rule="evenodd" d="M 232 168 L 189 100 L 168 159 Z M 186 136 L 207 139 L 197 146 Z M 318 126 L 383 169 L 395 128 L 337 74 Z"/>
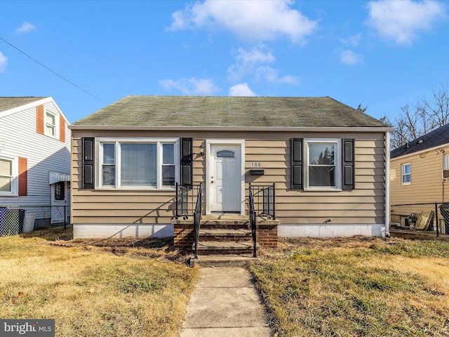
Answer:
<path fill-rule="evenodd" d="M 237 52 L 236 63 L 227 70 L 229 77 L 233 81 L 238 81 L 247 74 L 252 73 L 257 64 L 274 62 L 275 60 L 272 53 L 263 53 L 257 49 L 246 51 L 243 48 L 239 48 Z"/>

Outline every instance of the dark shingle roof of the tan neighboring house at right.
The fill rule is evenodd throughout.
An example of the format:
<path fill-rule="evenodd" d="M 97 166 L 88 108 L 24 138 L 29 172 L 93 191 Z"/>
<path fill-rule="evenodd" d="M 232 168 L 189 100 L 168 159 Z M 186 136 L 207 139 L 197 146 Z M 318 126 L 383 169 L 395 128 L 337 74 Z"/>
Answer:
<path fill-rule="evenodd" d="M 411 142 L 392 150 L 390 152 L 390 158 L 393 159 L 405 156 L 406 154 L 413 154 L 445 144 L 449 144 L 449 124 L 436 128 L 434 131 L 430 131 L 424 136 L 418 137 Z"/>

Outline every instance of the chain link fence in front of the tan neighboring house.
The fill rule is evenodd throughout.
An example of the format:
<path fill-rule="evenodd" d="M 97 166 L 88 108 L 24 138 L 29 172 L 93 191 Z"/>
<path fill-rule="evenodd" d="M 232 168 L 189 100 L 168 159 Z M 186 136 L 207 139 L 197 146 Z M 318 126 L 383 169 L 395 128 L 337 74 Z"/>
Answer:
<path fill-rule="evenodd" d="M 390 227 L 448 235 L 449 203 L 391 205 Z"/>

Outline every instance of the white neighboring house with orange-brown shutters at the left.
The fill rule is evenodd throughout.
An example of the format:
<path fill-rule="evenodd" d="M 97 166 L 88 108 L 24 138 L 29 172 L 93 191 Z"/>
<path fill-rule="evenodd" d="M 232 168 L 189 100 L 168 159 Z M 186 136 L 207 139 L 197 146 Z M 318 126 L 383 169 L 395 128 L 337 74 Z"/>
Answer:
<path fill-rule="evenodd" d="M 8 209 L 28 230 L 69 218 L 68 125 L 51 97 L 0 97 L 0 235 Z"/>

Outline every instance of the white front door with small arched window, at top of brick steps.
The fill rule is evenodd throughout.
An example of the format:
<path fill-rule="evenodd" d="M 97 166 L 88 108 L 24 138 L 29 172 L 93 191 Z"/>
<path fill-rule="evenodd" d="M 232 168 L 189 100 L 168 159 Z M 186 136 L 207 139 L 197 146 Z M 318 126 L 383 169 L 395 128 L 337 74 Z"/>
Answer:
<path fill-rule="evenodd" d="M 210 211 L 241 211 L 241 145 L 210 145 Z"/>

